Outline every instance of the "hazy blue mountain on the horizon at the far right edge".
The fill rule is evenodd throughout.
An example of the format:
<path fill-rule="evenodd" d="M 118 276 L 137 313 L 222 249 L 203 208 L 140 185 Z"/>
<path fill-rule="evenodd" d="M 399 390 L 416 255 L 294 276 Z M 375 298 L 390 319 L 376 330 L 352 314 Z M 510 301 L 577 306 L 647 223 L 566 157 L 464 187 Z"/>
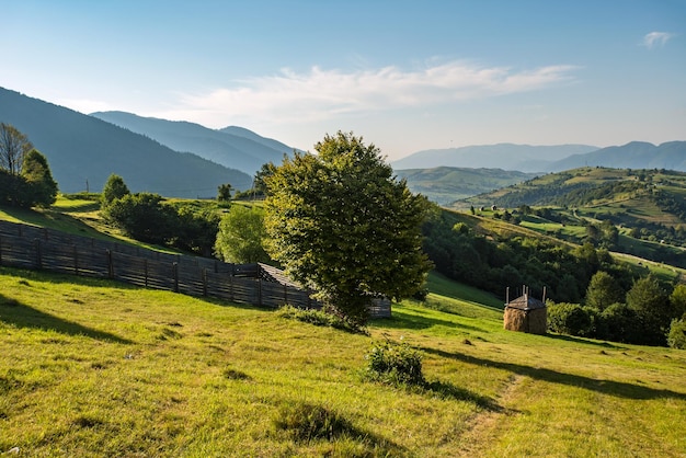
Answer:
<path fill-rule="evenodd" d="M 610 167 L 615 169 L 666 169 L 686 172 L 686 141 L 668 141 L 660 146 L 643 141 L 574 154 L 557 161 L 547 169 L 552 172 L 580 167 Z"/>

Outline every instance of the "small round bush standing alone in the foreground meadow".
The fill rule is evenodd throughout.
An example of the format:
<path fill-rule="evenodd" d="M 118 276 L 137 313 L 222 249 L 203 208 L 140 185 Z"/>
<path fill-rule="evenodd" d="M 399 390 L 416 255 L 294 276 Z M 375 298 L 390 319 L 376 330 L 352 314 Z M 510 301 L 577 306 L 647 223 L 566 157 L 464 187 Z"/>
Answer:
<path fill-rule="evenodd" d="M 425 385 L 422 355 L 405 342 L 398 344 L 387 340 L 374 343 L 365 359 L 366 376 L 370 380 L 390 385 Z"/>

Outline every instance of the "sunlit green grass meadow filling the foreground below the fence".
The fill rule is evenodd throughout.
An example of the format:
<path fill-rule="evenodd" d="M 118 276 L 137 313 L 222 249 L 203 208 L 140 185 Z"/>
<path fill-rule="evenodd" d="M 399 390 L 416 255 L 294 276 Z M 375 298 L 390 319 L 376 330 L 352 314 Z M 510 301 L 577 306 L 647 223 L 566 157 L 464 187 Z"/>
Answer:
<path fill-rule="evenodd" d="M 500 301 L 432 277 L 369 336 L 104 280 L 0 267 L 0 454 L 686 454 L 686 352 L 502 329 Z M 364 381 L 374 342 L 427 388 Z"/>

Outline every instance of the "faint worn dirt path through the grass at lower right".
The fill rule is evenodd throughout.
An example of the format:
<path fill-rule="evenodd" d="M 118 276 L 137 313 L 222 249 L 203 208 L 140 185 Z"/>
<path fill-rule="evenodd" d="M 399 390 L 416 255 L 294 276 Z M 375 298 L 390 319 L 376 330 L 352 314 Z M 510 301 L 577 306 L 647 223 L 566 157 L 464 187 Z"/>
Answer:
<path fill-rule="evenodd" d="M 521 375 L 512 375 L 510 377 L 495 399 L 495 403 L 500 405 L 500 409 L 483 410 L 475 415 L 469 422 L 469 430 L 462 434 L 458 456 L 471 458 L 485 455 L 489 444 L 498 439 L 499 426 L 502 425 L 503 420 L 506 416 L 517 414 L 512 404 L 524 378 Z"/>

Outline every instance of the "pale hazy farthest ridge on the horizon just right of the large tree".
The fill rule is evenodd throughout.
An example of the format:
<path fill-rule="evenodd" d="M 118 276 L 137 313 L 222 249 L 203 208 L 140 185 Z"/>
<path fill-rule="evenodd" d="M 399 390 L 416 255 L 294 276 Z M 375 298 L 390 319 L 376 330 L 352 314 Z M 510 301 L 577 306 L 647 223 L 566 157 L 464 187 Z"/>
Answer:
<path fill-rule="evenodd" d="M 588 145 L 484 145 L 450 149 L 430 149 L 419 151 L 391 162 L 396 170 L 432 169 L 436 167 L 457 167 L 471 169 L 499 168 L 521 172 L 541 172 L 550 165 L 572 154 L 583 154 L 597 150 Z"/>

